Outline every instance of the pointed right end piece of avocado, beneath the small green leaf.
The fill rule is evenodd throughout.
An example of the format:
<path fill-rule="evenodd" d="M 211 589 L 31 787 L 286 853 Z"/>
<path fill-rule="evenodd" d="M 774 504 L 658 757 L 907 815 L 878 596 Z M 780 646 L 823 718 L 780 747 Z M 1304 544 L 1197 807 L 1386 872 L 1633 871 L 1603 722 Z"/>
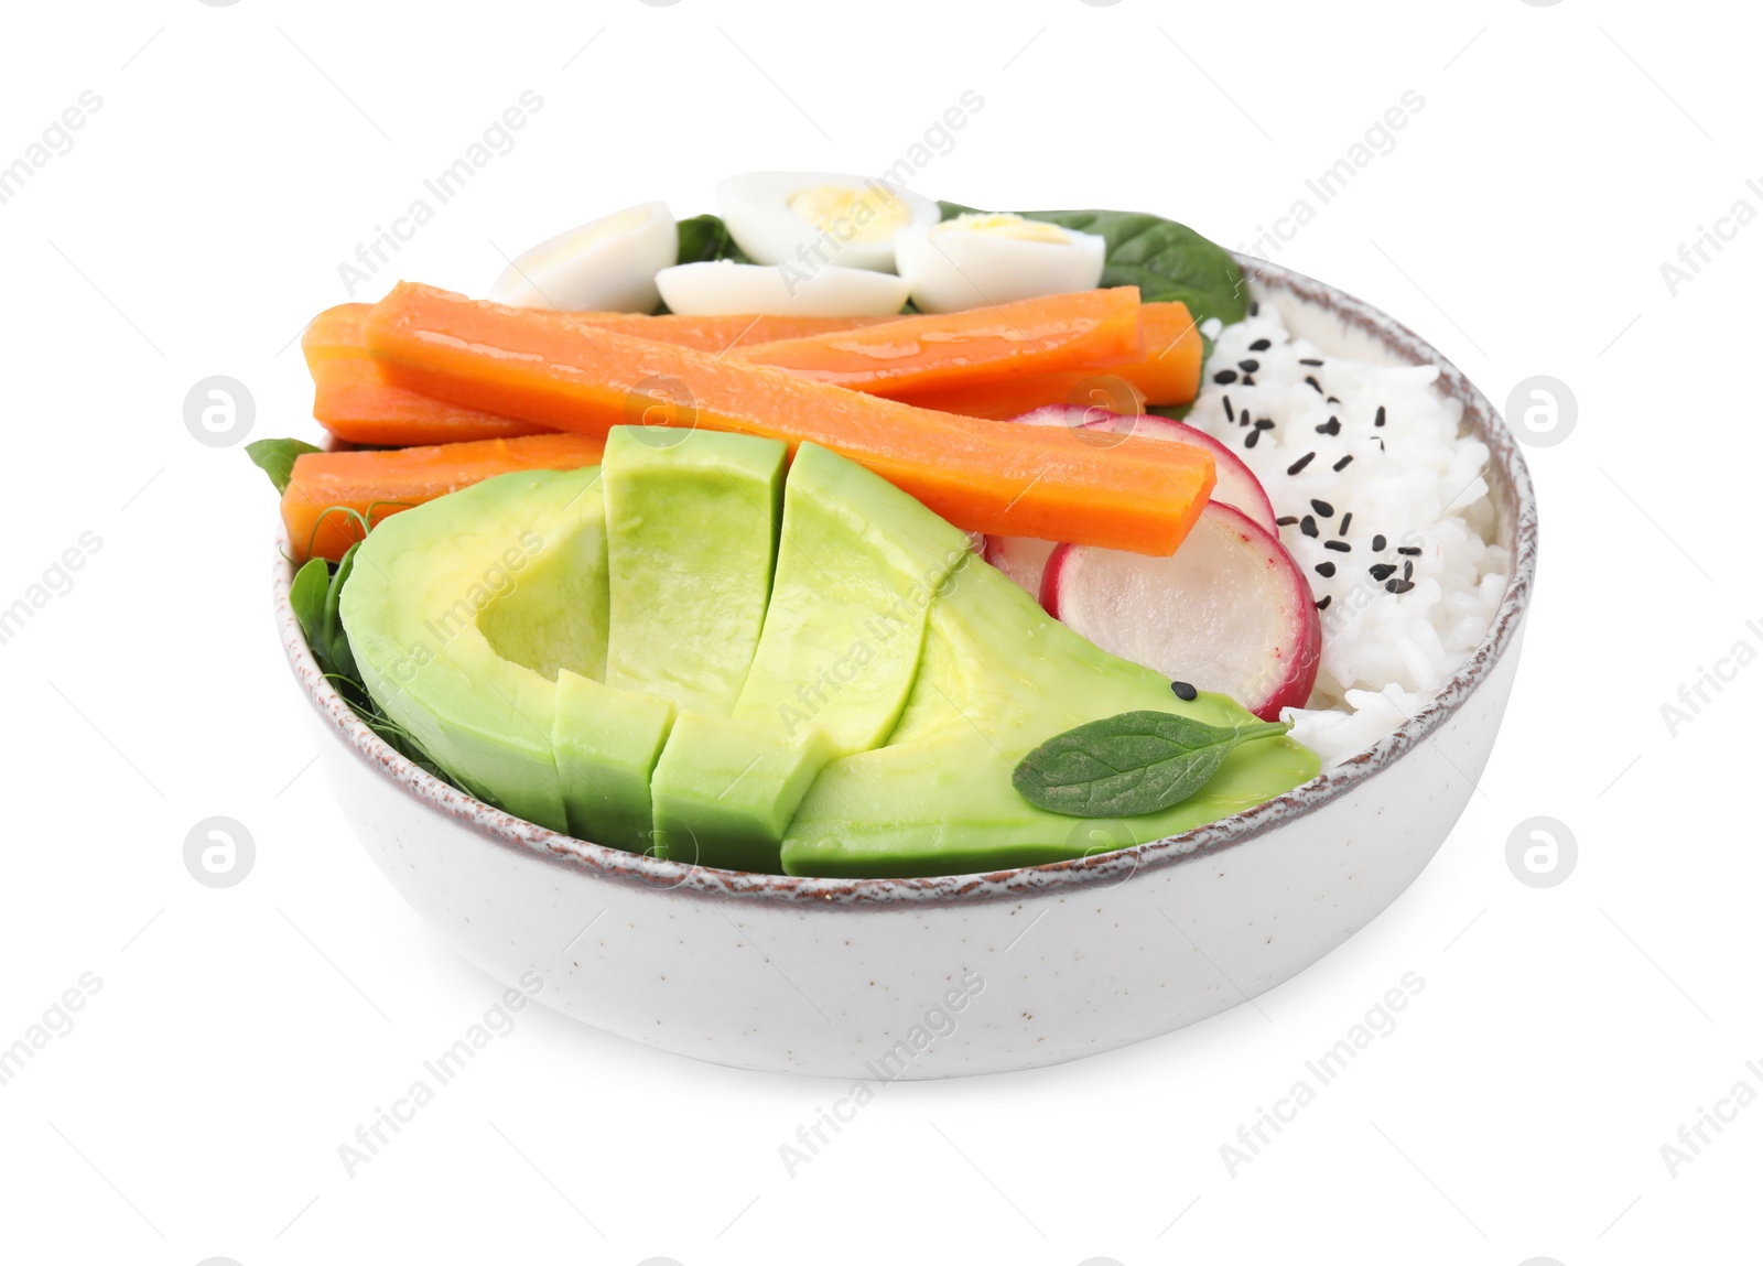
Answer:
<path fill-rule="evenodd" d="M 1037 866 L 1148 843 L 1252 808 L 1315 778 L 1291 739 L 1236 748 L 1197 793 L 1162 813 L 1086 822 L 1047 813 L 1010 783 L 1056 734 L 1160 709 L 1213 725 L 1255 721 L 1224 695 L 1183 702 L 1158 674 L 1051 619 L 984 562 L 931 605 L 924 656 L 885 746 L 829 763 L 785 834 L 788 875 L 922 876 Z"/>

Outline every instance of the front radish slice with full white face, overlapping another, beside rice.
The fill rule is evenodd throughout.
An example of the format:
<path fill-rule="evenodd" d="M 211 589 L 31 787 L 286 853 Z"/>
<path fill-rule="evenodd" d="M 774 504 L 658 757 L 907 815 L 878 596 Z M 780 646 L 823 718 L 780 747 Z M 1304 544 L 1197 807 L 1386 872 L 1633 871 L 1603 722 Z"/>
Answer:
<path fill-rule="evenodd" d="M 1322 621 L 1305 573 L 1273 532 L 1216 501 L 1169 557 L 1058 547 L 1040 601 L 1104 651 L 1266 721 L 1315 684 Z"/>

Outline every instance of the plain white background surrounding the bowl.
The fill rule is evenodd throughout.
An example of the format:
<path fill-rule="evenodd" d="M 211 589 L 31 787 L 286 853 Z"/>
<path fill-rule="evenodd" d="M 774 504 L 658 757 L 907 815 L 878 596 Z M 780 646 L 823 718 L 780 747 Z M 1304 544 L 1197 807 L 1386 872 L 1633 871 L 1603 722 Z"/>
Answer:
<path fill-rule="evenodd" d="M 1661 1144 L 1763 1090 L 1763 226 L 1661 264 L 1763 178 L 1740 5 L 1521 0 L 672 7 L 240 0 L 11 5 L 0 162 L 93 90 L 0 205 L 11 513 L 0 605 L 102 547 L 0 645 L 0 1259 L 1387 1262 L 1756 1257 L 1763 1106 L 1677 1176 Z M 1754 19 L 1752 19 L 1754 21 Z M 585 48 L 584 48 L 585 46 Z M 323 776 L 268 610 L 273 497 L 183 427 L 210 374 L 252 437 L 317 437 L 296 335 L 337 264 L 522 90 L 543 109 L 376 279 L 481 293 L 518 250 L 749 168 L 880 171 L 964 88 L 920 189 L 1158 210 L 1239 245 L 1412 88 L 1425 108 L 1275 257 L 1400 316 L 1499 402 L 1574 391 L 1527 457 L 1541 585 L 1500 744 L 1421 880 L 1326 961 L 1077 1065 L 896 1086 L 795 1178 L 834 1093 L 529 1010 L 349 1178 L 337 1146 L 495 986 L 391 892 Z M 1312 203 L 1315 199 L 1312 197 Z M 185 832 L 243 822 L 227 890 Z M 1580 860 L 1521 885 L 1513 827 Z M 1236 1176 L 1220 1144 L 1405 972 L 1425 991 Z M 934 1128 L 933 1128 L 934 1127 Z M 959 1151 L 956 1146 L 959 1146 Z"/>

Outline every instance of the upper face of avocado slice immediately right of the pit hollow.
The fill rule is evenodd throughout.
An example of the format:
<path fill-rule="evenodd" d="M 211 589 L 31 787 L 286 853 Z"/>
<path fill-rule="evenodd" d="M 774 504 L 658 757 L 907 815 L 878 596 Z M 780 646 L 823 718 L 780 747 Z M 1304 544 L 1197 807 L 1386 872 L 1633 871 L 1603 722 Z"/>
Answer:
<path fill-rule="evenodd" d="M 733 711 L 770 598 L 786 457 L 776 439 L 612 428 L 608 686 Z"/>

